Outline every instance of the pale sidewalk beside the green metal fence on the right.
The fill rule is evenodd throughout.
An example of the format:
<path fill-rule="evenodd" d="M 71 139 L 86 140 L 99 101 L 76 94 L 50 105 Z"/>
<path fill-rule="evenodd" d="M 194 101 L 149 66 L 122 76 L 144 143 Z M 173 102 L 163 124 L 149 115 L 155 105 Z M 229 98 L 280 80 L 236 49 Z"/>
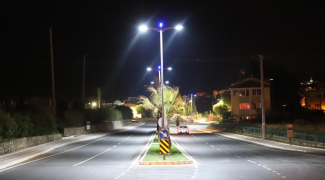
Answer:
<path fill-rule="evenodd" d="M 246 142 L 252 142 L 252 143 L 265 145 L 268 147 L 284 149 L 284 150 L 294 150 L 294 151 L 301 151 L 301 152 L 325 152 L 325 149 L 322 149 L 322 148 L 305 147 L 305 146 L 298 146 L 298 145 L 290 146 L 290 144 L 286 144 L 286 143 L 282 143 L 282 142 L 265 140 L 265 139 L 261 139 L 261 138 L 255 138 L 255 137 L 250 137 L 250 136 L 245 136 L 245 135 L 223 132 L 223 131 L 218 131 L 218 130 L 213 130 L 213 129 L 208 129 L 208 128 L 197 128 L 196 130 L 206 132 L 206 133 L 212 133 L 217 136 L 222 136 L 222 137 L 231 138 L 231 139 L 237 139 L 237 140 L 246 141 Z"/>

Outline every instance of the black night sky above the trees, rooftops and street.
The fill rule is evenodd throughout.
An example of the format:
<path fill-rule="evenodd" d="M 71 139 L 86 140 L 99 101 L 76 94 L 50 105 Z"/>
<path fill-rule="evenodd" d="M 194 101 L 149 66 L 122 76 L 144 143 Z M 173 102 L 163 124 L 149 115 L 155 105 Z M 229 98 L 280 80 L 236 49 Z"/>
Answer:
<path fill-rule="evenodd" d="M 144 94 L 143 85 L 158 75 L 146 68 L 160 64 L 159 33 L 138 27 L 160 22 L 184 27 L 163 32 L 163 66 L 173 68 L 164 79 L 181 95 L 228 88 L 259 53 L 301 78 L 321 78 L 323 8 L 322 0 L 2 0 L 0 94 L 51 96 L 48 27 L 62 98 L 81 98 L 83 54 L 89 55 L 86 97 L 95 96 L 96 87 L 102 99 Z"/>

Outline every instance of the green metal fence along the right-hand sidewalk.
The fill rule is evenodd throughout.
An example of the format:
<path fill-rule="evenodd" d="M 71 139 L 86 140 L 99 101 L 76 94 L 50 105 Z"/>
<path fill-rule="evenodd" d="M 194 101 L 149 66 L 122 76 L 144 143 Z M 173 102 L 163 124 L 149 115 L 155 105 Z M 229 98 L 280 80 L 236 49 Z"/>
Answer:
<path fill-rule="evenodd" d="M 255 136 L 262 136 L 261 127 L 248 127 L 248 126 L 235 126 L 233 123 L 213 123 L 211 122 L 209 126 L 222 129 L 222 130 L 231 130 L 239 131 L 244 134 L 250 134 Z M 292 138 L 292 143 L 297 145 L 309 145 L 309 146 L 318 146 L 325 147 L 325 133 L 324 132 L 310 132 L 310 131 L 293 131 L 294 137 Z M 266 127 L 266 137 L 271 139 L 276 139 L 280 141 L 289 142 L 290 139 L 287 138 L 286 129 L 278 128 L 267 128 Z"/>

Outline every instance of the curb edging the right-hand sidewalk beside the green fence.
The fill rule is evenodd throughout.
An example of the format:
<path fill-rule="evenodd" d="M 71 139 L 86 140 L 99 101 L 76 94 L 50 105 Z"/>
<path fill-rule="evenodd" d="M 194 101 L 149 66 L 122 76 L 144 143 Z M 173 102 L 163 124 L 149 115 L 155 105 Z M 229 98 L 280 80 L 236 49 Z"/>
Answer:
<path fill-rule="evenodd" d="M 203 132 L 208 132 L 208 133 L 213 133 L 213 132 L 205 131 L 205 130 L 198 129 L 198 128 L 196 130 L 203 131 Z M 210 129 L 210 130 L 213 130 L 213 129 Z M 223 132 L 223 131 L 221 131 L 221 132 Z M 225 133 L 229 133 L 229 132 L 225 132 Z M 232 133 L 229 133 L 229 134 L 232 134 Z M 279 149 L 283 149 L 283 150 L 293 150 L 293 151 L 300 151 L 300 152 L 310 152 L 308 150 L 285 148 L 285 147 L 280 147 L 280 146 L 276 146 L 276 145 L 270 145 L 270 144 L 267 144 L 267 143 L 256 142 L 254 140 L 241 139 L 241 138 L 238 138 L 238 137 L 233 137 L 233 136 L 224 135 L 224 134 L 215 134 L 215 135 L 220 135 L 220 136 L 224 136 L 224 137 L 228 137 L 228 138 L 233 138 L 233 139 L 243 140 L 243 141 L 247 141 L 247 142 L 252 142 L 252 143 L 256 143 L 256 144 L 260 144 L 260 145 L 265 145 L 265 146 L 268 146 L 268 147 L 275 147 L 275 148 L 279 148 Z M 240 135 L 240 134 L 236 134 L 236 135 Z M 244 136 L 244 135 L 240 135 L 240 136 Z M 244 137 L 249 137 L 249 136 L 244 136 Z M 250 138 L 254 138 L 254 137 L 250 137 Z M 264 139 L 262 139 L 262 140 L 264 140 Z M 267 140 L 265 140 L 265 141 L 267 141 Z M 271 142 L 275 142 L 275 141 L 271 141 Z M 279 143 L 281 145 L 288 145 L 286 143 L 281 143 L 281 142 L 275 142 L 275 143 Z M 293 145 L 293 146 L 295 146 L 295 147 L 302 147 L 302 146 L 297 146 L 297 145 Z M 308 147 L 302 147 L 302 148 L 308 148 Z M 310 148 L 310 149 L 315 149 L 315 148 Z M 325 150 L 325 149 L 318 149 L 318 150 Z"/>

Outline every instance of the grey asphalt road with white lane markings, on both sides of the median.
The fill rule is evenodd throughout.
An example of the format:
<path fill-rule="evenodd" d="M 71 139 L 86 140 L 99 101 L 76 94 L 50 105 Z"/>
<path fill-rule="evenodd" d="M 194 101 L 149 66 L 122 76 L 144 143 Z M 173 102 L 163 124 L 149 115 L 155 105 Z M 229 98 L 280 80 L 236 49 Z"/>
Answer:
<path fill-rule="evenodd" d="M 193 164 L 139 165 L 155 123 L 72 143 L 0 171 L 0 179 L 324 179 L 324 153 L 270 148 L 195 130 L 170 128 Z M 161 157 L 162 158 L 162 157 Z"/>

